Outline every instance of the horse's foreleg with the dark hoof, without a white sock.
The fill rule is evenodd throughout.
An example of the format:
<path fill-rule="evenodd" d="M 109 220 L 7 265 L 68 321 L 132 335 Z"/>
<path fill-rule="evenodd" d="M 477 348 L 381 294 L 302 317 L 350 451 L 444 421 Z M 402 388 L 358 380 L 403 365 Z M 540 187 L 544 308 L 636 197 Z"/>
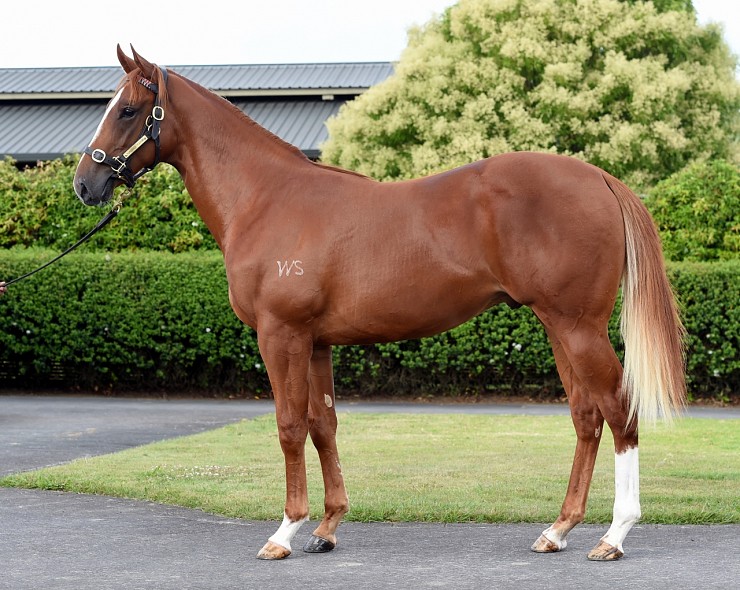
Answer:
<path fill-rule="evenodd" d="M 311 357 L 309 433 L 319 454 L 324 478 L 324 518 L 303 547 L 307 553 L 325 553 L 337 544 L 336 530 L 349 510 L 342 467 L 337 452 L 337 415 L 331 347 L 314 348 Z"/>

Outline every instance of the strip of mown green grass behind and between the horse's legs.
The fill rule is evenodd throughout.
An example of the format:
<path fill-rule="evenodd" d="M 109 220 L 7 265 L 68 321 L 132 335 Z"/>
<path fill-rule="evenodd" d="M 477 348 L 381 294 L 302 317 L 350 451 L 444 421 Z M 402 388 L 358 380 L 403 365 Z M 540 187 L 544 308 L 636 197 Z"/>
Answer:
<path fill-rule="evenodd" d="M 565 416 L 352 414 L 339 417 L 347 520 L 551 522 L 570 473 L 575 434 Z M 608 431 L 587 522 L 608 523 Z M 321 471 L 307 447 L 312 516 Z M 689 419 L 642 432 L 642 522 L 740 523 L 740 422 Z M 274 416 L 13 475 L 0 485 L 105 494 L 257 520 L 279 519 L 285 497 Z"/>

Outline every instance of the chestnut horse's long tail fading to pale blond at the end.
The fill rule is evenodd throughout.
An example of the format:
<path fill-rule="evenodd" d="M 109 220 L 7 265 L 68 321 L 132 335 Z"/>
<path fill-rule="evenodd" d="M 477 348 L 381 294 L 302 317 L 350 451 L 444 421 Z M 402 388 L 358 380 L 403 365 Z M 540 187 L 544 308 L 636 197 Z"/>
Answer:
<path fill-rule="evenodd" d="M 686 405 L 686 331 L 666 275 L 660 237 L 650 213 L 624 183 L 604 174 L 624 219 L 626 265 L 622 277 L 624 340 L 622 393 L 628 424 L 670 421 Z"/>

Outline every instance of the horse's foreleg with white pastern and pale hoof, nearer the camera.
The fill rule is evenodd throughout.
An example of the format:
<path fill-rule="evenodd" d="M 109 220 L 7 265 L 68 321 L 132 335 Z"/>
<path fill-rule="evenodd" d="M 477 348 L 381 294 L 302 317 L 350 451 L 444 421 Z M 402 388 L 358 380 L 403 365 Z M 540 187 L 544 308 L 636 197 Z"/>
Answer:
<path fill-rule="evenodd" d="M 308 436 L 308 371 L 311 339 L 288 329 L 261 329 L 258 342 L 275 397 L 280 447 L 285 457 L 283 522 L 257 557 L 283 559 L 291 541 L 308 520 L 305 446 Z"/>

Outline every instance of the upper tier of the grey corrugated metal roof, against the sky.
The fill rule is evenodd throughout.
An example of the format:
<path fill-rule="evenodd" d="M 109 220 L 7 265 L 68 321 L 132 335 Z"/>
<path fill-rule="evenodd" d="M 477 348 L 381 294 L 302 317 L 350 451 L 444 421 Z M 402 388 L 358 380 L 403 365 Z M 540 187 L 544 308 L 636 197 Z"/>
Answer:
<path fill-rule="evenodd" d="M 173 71 L 213 90 L 355 90 L 362 91 L 393 73 L 379 63 L 176 66 Z M 119 67 L 0 68 L 0 95 L 113 93 L 121 79 Z M 9 98 L 9 97 L 4 97 Z"/>

